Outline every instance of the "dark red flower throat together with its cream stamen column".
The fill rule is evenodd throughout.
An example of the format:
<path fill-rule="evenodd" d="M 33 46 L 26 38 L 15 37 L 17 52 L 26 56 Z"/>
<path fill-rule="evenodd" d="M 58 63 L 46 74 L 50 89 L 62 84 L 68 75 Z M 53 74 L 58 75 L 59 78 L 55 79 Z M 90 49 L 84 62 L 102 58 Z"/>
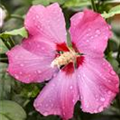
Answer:
<path fill-rule="evenodd" d="M 72 74 L 75 69 L 82 65 L 84 57 L 80 55 L 74 43 L 73 48 L 68 48 L 65 43 L 57 44 L 55 59 L 52 61 L 52 67 L 59 67 L 66 74 Z"/>

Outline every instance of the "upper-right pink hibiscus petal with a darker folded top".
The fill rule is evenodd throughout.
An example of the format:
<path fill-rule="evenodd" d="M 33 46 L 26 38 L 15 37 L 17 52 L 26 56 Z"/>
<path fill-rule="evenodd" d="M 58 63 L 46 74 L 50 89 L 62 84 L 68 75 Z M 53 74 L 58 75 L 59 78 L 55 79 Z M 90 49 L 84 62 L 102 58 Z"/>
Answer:
<path fill-rule="evenodd" d="M 100 14 L 85 10 L 71 18 L 70 34 L 80 52 L 97 57 L 103 56 L 111 31 Z"/>

